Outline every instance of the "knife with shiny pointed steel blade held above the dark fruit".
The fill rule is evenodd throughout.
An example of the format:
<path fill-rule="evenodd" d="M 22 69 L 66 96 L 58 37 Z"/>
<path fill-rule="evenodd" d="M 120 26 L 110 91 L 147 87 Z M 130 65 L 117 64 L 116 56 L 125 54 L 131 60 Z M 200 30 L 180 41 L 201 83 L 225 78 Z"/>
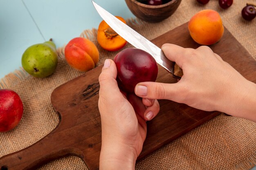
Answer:
<path fill-rule="evenodd" d="M 175 62 L 172 62 L 166 58 L 164 52 L 155 44 L 144 38 L 142 35 L 133 30 L 130 26 L 124 24 L 124 22 L 117 19 L 114 15 L 103 9 L 97 3 L 92 1 L 96 11 L 101 18 L 122 38 L 132 44 L 135 48 L 144 50 L 150 53 L 155 61 L 168 72 L 173 74 Z M 177 76 L 175 76 L 177 77 Z"/>

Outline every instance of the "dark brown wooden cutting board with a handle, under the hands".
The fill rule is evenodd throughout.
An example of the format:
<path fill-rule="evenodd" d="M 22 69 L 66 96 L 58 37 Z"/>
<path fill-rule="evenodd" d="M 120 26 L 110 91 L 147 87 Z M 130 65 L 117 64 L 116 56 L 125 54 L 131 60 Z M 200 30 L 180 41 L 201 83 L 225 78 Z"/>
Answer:
<path fill-rule="evenodd" d="M 187 23 L 152 42 L 159 47 L 164 43 L 190 48 L 200 46 L 191 39 Z M 210 47 L 243 76 L 256 82 L 256 61 L 227 29 L 220 42 Z M 32 170 L 67 155 L 79 156 L 89 170 L 99 169 L 101 119 L 98 77 L 101 68 L 88 71 L 52 92 L 52 106 L 60 119 L 58 126 L 36 144 L 0 158 L 1 170 Z M 157 82 L 175 83 L 176 79 L 159 66 Z M 138 160 L 220 114 L 168 100 L 159 100 L 159 104 L 160 113 L 147 123 L 147 138 Z"/>

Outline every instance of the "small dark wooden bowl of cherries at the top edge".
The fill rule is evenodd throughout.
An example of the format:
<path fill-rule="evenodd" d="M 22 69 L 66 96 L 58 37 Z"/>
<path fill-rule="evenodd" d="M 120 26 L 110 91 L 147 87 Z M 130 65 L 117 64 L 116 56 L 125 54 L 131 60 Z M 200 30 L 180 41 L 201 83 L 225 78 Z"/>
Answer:
<path fill-rule="evenodd" d="M 147 22 L 160 22 L 171 16 L 179 7 L 181 0 L 171 0 L 162 5 L 147 5 L 137 0 L 125 0 L 130 11 Z"/>

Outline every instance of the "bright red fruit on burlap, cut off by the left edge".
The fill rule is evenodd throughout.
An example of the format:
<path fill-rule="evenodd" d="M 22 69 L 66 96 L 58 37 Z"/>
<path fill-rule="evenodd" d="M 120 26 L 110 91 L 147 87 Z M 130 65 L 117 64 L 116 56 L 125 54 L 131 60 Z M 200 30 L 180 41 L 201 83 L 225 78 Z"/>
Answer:
<path fill-rule="evenodd" d="M 23 104 L 17 93 L 0 89 L 0 132 L 15 128 L 23 115 Z"/>

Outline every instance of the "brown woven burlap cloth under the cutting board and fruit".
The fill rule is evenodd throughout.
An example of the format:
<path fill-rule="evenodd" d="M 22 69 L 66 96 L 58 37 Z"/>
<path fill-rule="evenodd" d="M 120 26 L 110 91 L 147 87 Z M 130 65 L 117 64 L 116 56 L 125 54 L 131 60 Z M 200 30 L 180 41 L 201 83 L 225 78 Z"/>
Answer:
<path fill-rule="evenodd" d="M 177 11 L 163 22 L 150 24 L 132 19 L 128 20 L 128 24 L 146 38 L 153 39 L 189 21 L 202 9 L 214 9 L 220 13 L 227 29 L 256 58 L 256 19 L 247 22 L 241 18 L 241 10 L 245 4 L 245 0 L 234 0 L 229 9 L 223 10 L 219 7 L 218 0 L 211 0 L 204 6 L 196 0 L 182 0 Z M 101 49 L 95 35 L 96 29 L 81 34 L 97 45 L 100 51 L 100 65 L 106 58 L 113 58 L 117 52 Z M 230 44 L 223 48 L 233 46 Z M 58 116 L 50 103 L 50 95 L 57 86 L 83 74 L 67 65 L 63 58 L 63 49 L 59 49 L 58 52 L 58 67 L 56 73 L 50 77 L 38 79 L 28 76 L 24 71 L 16 71 L 1 80 L 0 88 L 16 91 L 23 101 L 25 110 L 20 124 L 14 130 L 0 133 L 0 157 L 34 144 L 58 124 Z M 139 161 L 136 169 L 250 169 L 254 165 L 256 123 L 220 115 Z M 52 161 L 39 169 L 87 170 L 83 161 L 75 156 Z"/>

